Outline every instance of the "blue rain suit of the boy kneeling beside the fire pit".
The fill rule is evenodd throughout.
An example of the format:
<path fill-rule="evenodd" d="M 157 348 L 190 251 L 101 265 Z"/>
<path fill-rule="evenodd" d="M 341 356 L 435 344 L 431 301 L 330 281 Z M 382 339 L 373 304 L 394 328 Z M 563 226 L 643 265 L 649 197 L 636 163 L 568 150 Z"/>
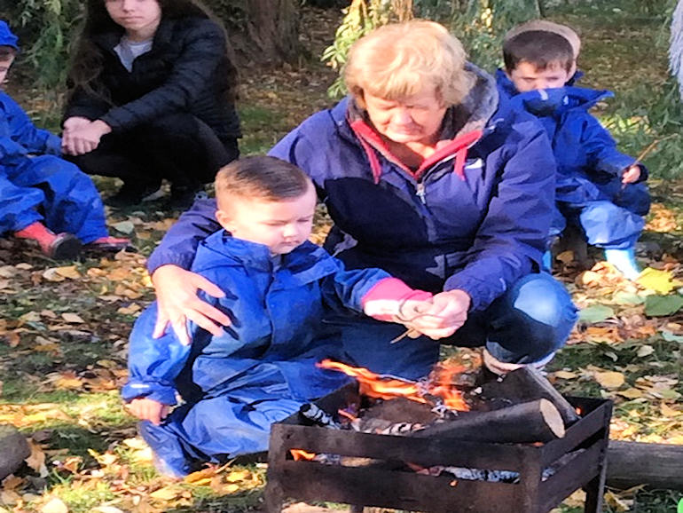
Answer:
<path fill-rule="evenodd" d="M 322 248 L 305 242 L 277 263 L 261 244 L 221 231 L 197 250 L 192 270 L 216 283 L 225 297 L 203 296 L 226 312 L 232 325 L 214 336 L 192 326 L 192 345 L 169 333 L 153 339 L 156 305 L 130 336 L 126 400 L 146 397 L 176 404 L 161 426 L 141 422 L 161 470 L 182 476 L 192 462 L 224 462 L 265 451 L 270 426 L 310 399 L 346 383 L 340 373 L 315 367 L 343 359 L 335 328 L 322 320 L 330 309 L 360 317 L 362 299 L 389 274 L 345 271 Z"/>

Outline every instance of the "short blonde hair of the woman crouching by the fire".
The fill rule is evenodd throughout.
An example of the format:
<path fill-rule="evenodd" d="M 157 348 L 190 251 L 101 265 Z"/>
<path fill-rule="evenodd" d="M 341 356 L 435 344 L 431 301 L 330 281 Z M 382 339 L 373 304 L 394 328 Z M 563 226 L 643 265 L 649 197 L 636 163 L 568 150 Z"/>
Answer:
<path fill-rule="evenodd" d="M 349 50 L 344 80 L 365 107 L 365 91 L 383 99 L 404 99 L 434 86 L 445 107 L 458 105 L 472 86 L 467 55 L 443 25 L 410 20 L 376 28 Z"/>

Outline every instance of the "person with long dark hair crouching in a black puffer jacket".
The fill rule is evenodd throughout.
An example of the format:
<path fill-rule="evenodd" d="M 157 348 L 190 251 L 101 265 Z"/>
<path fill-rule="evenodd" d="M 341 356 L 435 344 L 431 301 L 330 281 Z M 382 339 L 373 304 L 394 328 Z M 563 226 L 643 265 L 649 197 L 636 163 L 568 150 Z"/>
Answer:
<path fill-rule="evenodd" d="M 85 172 L 122 178 L 107 202 L 139 203 L 166 178 L 171 205 L 184 207 L 238 157 L 228 52 L 192 0 L 88 0 L 62 146 Z"/>

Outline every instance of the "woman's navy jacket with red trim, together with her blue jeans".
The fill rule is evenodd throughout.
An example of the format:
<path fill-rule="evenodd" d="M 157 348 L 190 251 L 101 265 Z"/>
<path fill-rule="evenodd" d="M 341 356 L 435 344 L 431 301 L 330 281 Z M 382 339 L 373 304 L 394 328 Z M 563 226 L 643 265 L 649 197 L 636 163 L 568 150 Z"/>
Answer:
<path fill-rule="evenodd" d="M 349 268 L 379 267 L 412 288 L 462 289 L 465 326 L 441 343 L 486 344 L 497 359 L 530 363 L 565 342 L 576 321 L 566 290 L 538 272 L 554 202 L 555 167 L 533 116 L 500 104 L 490 75 L 445 114 L 444 146 L 410 170 L 382 144 L 352 99 L 313 114 L 271 149 L 313 179 L 334 227 L 325 248 Z M 213 201 L 198 201 L 149 260 L 187 268 L 216 230 Z M 349 363 L 415 379 L 439 356 L 420 337 L 390 344 L 402 328 L 338 315 Z"/>

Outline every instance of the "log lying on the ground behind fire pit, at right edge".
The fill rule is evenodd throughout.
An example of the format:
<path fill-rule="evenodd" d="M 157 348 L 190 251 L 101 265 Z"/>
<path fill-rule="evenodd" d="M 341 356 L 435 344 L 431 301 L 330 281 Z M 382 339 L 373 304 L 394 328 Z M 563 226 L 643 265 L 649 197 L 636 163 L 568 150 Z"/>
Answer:
<path fill-rule="evenodd" d="M 683 446 L 610 440 L 607 484 L 683 490 Z"/>

